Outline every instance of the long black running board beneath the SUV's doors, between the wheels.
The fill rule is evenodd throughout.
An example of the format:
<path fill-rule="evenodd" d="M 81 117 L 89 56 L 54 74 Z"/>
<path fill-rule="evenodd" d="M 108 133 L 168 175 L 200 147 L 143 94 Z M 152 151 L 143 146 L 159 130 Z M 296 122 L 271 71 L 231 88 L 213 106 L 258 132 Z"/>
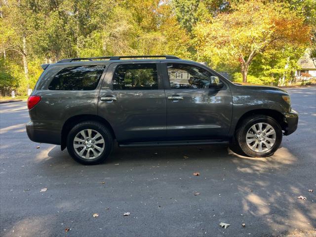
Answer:
<path fill-rule="evenodd" d="M 119 147 L 167 147 L 193 145 L 228 145 L 228 140 L 193 140 L 193 141 L 161 141 L 161 142 L 132 142 L 119 143 Z"/>

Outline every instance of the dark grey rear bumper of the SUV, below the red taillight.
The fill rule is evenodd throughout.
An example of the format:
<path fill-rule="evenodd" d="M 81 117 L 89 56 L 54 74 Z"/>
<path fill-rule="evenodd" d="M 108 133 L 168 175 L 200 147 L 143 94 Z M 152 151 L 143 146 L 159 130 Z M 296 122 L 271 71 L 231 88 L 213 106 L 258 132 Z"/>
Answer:
<path fill-rule="evenodd" d="M 60 121 L 29 121 L 26 132 L 33 142 L 60 145 Z"/>

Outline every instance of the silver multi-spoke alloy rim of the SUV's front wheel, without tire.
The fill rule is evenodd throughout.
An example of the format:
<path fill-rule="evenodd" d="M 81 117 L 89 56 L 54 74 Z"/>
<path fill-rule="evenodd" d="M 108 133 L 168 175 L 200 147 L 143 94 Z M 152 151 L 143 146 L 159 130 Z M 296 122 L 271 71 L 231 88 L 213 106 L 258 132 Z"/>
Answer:
<path fill-rule="evenodd" d="M 276 143 L 276 131 L 273 126 L 268 123 L 256 123 L 248 129 L 246 143 L 254 152 L 267 152 Z"/>

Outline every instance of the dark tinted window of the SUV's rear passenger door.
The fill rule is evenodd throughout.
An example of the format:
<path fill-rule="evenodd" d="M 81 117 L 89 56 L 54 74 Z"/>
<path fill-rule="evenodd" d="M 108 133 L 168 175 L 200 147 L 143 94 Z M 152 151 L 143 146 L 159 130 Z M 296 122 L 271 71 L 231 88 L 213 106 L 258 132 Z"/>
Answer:
<path fill-rule="evenodd" d="M 158 89 L 156 64 L 121 64 L 113 77 L 114 90 Z"/>

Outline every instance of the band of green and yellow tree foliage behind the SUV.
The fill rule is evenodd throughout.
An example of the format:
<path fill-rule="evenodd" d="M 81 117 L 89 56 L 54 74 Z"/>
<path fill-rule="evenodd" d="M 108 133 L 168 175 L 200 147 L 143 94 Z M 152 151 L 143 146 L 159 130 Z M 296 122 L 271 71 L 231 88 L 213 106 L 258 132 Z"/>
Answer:
<path fill-rule="evenodd" d="M 42 63 L 104 55 L 171 54 L 233 74 L 240 59 L 255 51 L 250 83 L 290 82 L 310 47 L 306 39 L 316 42 L 315 5 L 316 0 L 0 0 L 0 93 L 14 89 L 25 95 Z"/>

